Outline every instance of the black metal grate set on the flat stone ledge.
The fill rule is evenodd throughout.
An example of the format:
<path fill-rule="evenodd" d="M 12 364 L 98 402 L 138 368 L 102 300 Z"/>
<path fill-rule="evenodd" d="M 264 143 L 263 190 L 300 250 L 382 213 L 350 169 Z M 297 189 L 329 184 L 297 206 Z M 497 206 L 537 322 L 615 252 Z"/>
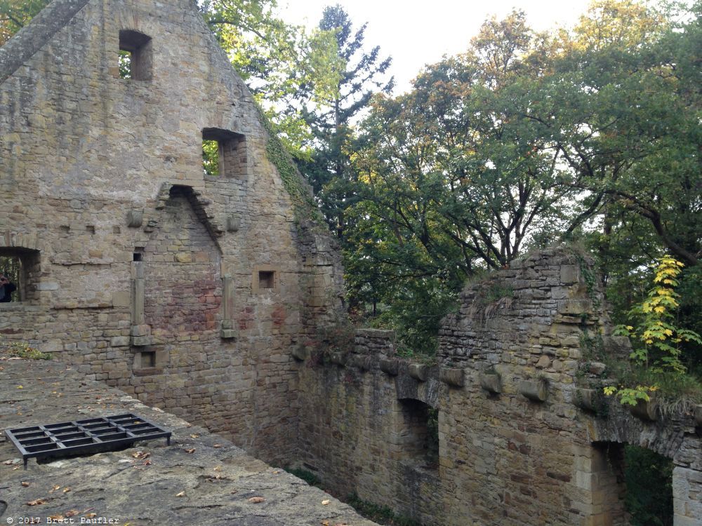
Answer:
<path fill-rule="evenodd" d="M 161 429 L 132 413 L 91 418 L 60 424 L 6 429 L 5 436 L 20 450 L 22 460 L 46 459 L 117 450 L 140 440 L 166 438 L 171 431 Z"/>

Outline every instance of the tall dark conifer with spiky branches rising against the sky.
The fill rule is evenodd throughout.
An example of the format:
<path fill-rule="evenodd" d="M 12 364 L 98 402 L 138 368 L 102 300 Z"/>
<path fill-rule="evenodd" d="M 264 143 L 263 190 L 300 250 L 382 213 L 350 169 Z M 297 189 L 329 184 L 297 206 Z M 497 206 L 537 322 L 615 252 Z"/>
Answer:
<path fill-rule="evenodd" d="M 337 90 L 332 96 L 303 107 L 305 120 L 314 135 L 312 158 L 300 163 L 307 180 L 322 205 L 326 220 L 343 238 L 346 208 L 352 193 L 348 189 L 352 124 L 366 108 L 374 93 L 390 93 L 394 85 L 388 79 L 391 58 L 380 59 L 380 47 L 364 50 L 367 23 L 356 31 L 348 13 L 339 6 L 324 8 L 319 29 L 336 32 L 338 58 L 345 66 L 340 72 Z"/>

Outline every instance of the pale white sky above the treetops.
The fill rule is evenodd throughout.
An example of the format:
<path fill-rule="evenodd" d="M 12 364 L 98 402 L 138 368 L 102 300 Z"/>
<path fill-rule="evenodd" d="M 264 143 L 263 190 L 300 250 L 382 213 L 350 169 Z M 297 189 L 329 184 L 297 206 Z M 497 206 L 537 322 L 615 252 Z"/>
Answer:
<path fill-rule="evenodd" d="M 286 22 L 315 27 L 324 6 L 340 4 L 354 27 L 368 22 L 366 43 L 380 46 L 383 58 L 392 56 L 395 92 L 407 90 L 409 81 L 425 64 L 442 55 L 468 48 L 468 41 L 486 18 L 502 18 L 513 7 L 527 13 L 535 29 L 574 25 L 589 0 L 279 0 Z"/>

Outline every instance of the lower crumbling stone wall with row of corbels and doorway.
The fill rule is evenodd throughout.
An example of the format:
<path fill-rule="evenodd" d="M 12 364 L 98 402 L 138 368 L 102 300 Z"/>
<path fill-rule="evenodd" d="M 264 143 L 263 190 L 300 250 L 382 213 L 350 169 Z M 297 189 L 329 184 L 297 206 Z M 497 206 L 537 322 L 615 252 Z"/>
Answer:
<path fill-rule="evenodd" d="M 631 443 L 673 459 L 675 525 L 700 525 L 700 408 L 651 421 L 600 396 L 604 362 L 629 346 L 610 336 L 591 264 L 545 250 L 468 285 L 433 367 L 398 359 L 392 333 L 375 330 L 359 330 L 349 356 L 308 360 L 303 466 L 425 524 L 625 525 Z M 438 410 L 438 465 L 421 451 L 426 406 Z"/>

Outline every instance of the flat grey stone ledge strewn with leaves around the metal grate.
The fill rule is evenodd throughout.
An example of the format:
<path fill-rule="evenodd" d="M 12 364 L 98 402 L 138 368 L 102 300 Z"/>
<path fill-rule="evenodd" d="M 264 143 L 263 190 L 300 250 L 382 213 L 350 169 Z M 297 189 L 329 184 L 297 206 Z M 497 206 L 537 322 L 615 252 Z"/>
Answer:
<path fill-rule="evenodd" d="M 0 357 L 1 430 L 124 412 L 171 429 L 171 445 L 159 439 L 47 464 L 30 459 L 24 471 L 18 451 L 3 434 L 0 524 L 11 518 L 14 525 L 26 524 L 32 517 L 47 524 L 51 516 L 65 520 L 55 524 L 105 523 L 98 522 L 104 518 L 121 526 L 375 524 L 224 438 L 117 389 L 86 381 L 65 365 Z M 255 504 L 249 501 L 252 497 L 264 500 Z M 41 504 L 30 506 L 32 501 Z"/>

